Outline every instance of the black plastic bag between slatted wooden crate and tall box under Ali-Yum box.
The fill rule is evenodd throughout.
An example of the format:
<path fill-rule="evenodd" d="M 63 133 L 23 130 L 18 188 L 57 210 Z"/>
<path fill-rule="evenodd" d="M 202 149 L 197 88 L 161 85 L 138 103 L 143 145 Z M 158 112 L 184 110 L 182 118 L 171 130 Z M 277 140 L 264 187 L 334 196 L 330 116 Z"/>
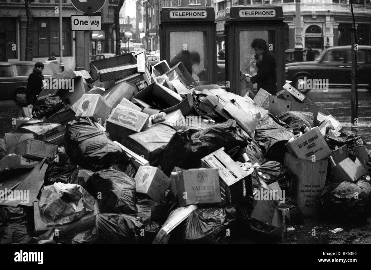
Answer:
<path fill-rule="evenodd" d="M 287 191 L 292 191 L 293 181 L 296 181 L 295 175 L 285 165 L 277 161 L 267 161 L 257 167 L 252 173 L 252 179 L 260 183 L 259 176 L 260 180 L 263 180 L 267 185 L 278 182 L 281 190 Z"/>

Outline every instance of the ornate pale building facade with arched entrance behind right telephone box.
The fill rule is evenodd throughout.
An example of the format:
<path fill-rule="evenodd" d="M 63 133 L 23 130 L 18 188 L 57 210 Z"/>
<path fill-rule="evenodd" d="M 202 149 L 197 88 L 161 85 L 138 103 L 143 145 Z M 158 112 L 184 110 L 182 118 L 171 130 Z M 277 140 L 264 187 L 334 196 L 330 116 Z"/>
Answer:
<path fill-rule="evenodd" d="M 283 7 L 285 22 L 285 48 L 295 46 L 295 1 L 294 0 L 213 0 L 216 13 L 217 34 L 224 34 L 226 8 L 229 6 L 279 5 Z M 301 37 L 303 47 L 313 48 L 350 45 L 352 14 L 349 0 L 302 0 Z M 358 44 L 371 45 L 370 0 L 354 0 L 353 3 Z M 218 49 L 224 49 L 223 37 L 218 37 Z"/>

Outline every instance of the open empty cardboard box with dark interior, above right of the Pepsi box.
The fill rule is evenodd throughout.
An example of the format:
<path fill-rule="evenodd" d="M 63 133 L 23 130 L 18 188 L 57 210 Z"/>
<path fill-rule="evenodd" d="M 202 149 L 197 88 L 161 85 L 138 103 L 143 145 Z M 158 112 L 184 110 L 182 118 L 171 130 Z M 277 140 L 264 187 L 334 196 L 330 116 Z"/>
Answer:
<path fill-rule="evenodd" d="M 161 112 L 168 113 L 180 109 L 183 115 L 188 115 L 193 109 L 191 94 L 187 94 L 186 98 L 183 99 L 177 93 L 158 83 L 151 83 L 151 85 L 137 93 L 132 98 L 132 101 L 144 108 L 151 108 L 149 104 L 154 97 L 162 99 L 168 106 L 168 108 L 162 109 Z"/>

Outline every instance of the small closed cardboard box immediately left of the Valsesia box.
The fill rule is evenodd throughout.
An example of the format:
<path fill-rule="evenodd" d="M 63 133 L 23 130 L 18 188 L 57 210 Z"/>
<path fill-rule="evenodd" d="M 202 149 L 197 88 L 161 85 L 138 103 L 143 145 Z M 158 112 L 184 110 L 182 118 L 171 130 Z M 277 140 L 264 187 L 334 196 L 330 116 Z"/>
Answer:
<path fill-rule="evenodd" d="M 152 166 L 139 167 L 134 179 L 136 192 L 147 194 L 158 203 L 161 202 L 171 183 L 162 171 Z"/>

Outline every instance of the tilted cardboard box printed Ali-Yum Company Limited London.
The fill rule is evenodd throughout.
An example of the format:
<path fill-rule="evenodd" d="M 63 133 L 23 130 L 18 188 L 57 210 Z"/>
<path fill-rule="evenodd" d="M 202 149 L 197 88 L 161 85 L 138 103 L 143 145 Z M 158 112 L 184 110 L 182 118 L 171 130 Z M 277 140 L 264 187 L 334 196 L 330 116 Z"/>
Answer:
<path fill-rule="evenodd" d="M 315 155 L 316 160 L 322 160 L 331 155 L 318 126 L 288 142 L 286 148 L 291 154 L 302 159 L 312 159 L 312 155 Z"/>

